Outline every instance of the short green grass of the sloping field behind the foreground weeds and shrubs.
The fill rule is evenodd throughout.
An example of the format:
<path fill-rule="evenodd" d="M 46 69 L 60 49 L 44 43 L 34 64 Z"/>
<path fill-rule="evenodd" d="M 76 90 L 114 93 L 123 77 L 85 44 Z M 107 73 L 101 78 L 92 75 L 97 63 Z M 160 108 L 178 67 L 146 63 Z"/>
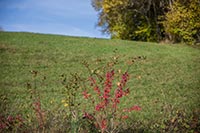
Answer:
<path fill-rule="evenodd" d="M 44 109 L 53 110 L 65 98 L 61 75 L 86 76 L 82 61 L 108 60 L 117 51 L 118 67 L 136 61 L 129 73 L 130 104 L 142 111 L 133 118 L 145 125 L 173 118 L 177 111 L 190 116 L 200 110 L 200 49 L 187 45 L 81 38 L 33 33 L 0 32 L 1 115 L 29 113 L 26 84 L 33 82 L 30 71 L 38 71 L 37 89 Z M 44 83 L 39 79 L 46 77 Z M 53 103 L 52 103 L 53 101 Z M 55 105 L 55 106 L 54 106 Z M 62 107 L 60 107 L 62 108 Z M 199 115 L 198 115 L 199 117 Z M 152 126 L 152 125 L 151 125 Z"/>

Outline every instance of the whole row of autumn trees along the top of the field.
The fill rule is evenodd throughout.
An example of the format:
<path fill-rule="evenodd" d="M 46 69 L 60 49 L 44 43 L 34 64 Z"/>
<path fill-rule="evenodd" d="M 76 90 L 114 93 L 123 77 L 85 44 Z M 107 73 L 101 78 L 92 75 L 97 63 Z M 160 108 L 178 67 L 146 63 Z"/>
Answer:
<path fill-rule="evenodd" d="M 200 0 L 92 0 L 111 38 L 200 42 Z"/>

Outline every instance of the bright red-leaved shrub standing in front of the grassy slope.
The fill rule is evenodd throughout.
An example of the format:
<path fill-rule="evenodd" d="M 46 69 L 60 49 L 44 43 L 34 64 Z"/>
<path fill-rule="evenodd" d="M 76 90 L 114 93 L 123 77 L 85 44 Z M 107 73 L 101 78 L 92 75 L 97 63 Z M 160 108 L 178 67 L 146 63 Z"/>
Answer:
<path fill-rule="evenodd" d="M 121 122 L 129 117 L 129 112 L 141 110 L 139 106 L 121 108 L 120 104 L 124 104 L 122 98 L 130 93 L 126 87 L 130 76 L 128 71 L 115 71 L 116 64 L 117 58 L 114 58 L 106 67 L 91 70 L 88 63 L 84 63 L 91 72 L 82 92 L 87 102 L 85 106 L 89 106 L 84 109 L 84 118 L 102 133 L 117 132 Z"/>

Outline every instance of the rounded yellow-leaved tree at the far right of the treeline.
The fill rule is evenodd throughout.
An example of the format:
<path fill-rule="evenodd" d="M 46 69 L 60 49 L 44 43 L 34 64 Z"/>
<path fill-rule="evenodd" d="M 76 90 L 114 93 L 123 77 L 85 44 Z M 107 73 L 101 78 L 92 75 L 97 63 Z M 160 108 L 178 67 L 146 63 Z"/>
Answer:
<path fill-rule="evenodd" d="M 164 28 L 173 42 L 200 41 L 200 1 L 177 0 L 166 13 Z"/>

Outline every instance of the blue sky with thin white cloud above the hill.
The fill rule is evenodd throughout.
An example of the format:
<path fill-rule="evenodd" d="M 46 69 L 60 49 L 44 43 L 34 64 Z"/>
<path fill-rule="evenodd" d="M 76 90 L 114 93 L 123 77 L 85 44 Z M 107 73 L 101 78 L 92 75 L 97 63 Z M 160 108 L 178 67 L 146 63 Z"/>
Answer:
<path fill-rule="evenodd" d="M 109 38 L 97 21 L 91 0 L 0 0 L 4 31 Z"/>

